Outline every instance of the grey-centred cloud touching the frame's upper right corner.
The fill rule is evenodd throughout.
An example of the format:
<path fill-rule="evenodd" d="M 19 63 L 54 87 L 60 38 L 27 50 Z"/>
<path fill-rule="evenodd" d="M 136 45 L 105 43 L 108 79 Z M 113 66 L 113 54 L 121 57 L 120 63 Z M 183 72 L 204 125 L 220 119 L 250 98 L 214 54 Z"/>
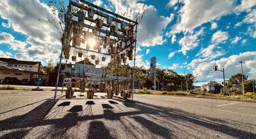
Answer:
<path fill-rule="evenodd" d="M 144 21 L 138 26 L 138 44 L 141 46 L 155 46 L 166 42 L 163 37 L 163 29 L 173 20 L 174 14 L 169 17 L 159 16 L 154 6 L 141 3 L 141 0 L 109 0 L 115 12 L 128 13 L 132 7 L 131 17 L 141 15 L 143 9 L 146 10 Z M 129 16 L 129 14 L 125 14 Z M 128 17 L 129 18 L 129 17 Z"/>

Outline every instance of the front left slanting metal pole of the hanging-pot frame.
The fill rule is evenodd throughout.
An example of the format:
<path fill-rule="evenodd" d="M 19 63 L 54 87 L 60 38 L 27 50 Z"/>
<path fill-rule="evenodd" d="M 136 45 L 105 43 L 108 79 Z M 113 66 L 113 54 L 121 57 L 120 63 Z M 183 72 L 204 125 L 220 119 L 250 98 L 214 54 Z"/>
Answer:
<path fill-rule="evenodd" d="M 69 18 L 69 12 L 70 12 L 70 8 L 71 8 L 71 0 L 69 0 L 69 4 L 68 4 L 68 8 L 67 8 L 67 19 Z M 67 20 L 65 21 L 65 29 L 64 32 L 67 30 Z M 56 87 L 55 87 L 55 93 L 54 93 L 54 101 L 56 101 L 56 96 L 57 96 L 57 89 L 58 89 L 58 84 L 59 84 L 59 78 L 60 78 L 60 70 L 61 70 L 61 59 L 62 59 L 62 53 L 63 53 L 63 47 L 64 47 L 64 35 L 65 33 L 63 32 L 62 34 L 62 40 L 61 40 L 61 57 L 60 57 L 60 63 L 59 63 L 59 70 L 58 70 L 58 75 L 57 75 L 57 81 L 56 81 Z M 66 38 L 68 34 L 66 34 Z"/>

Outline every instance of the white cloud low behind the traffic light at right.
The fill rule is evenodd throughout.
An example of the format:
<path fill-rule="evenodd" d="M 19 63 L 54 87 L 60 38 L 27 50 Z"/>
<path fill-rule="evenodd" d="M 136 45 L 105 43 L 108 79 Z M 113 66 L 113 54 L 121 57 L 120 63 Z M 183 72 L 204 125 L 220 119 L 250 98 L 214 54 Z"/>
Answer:
<path fill-rule="evenodd" d="M 256 70 L 254 70 L 256 69 L 256 51 L 248 51 L 213 61 L 208 58 L 194 59 L 188 64 L 188 69 L 194 69 L 193 75 L 199 80 L 214 81 L 216 79 L 223 79 L 223 75 L 220 72 L 213 71 L 213 67 L 218 66 L 219 69 L 224 68 L 225 78 L 229 79 L 229 76 L 241 72 L 239 61 L 243 61 L 243 73 L 248 75 L 249 78 L 256 78 Z"/>

